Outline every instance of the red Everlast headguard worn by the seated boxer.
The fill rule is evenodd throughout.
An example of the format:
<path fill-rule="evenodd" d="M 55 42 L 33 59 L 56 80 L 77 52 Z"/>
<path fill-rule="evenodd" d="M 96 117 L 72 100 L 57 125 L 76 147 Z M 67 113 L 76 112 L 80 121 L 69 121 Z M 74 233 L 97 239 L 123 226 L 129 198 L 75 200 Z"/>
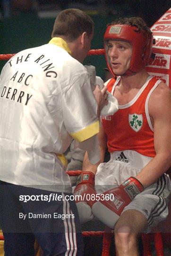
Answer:
<path fill-rule="evenodd" d="M 152 53 L 152 33 L 143 33 L 141 30 L 138 31 L 137 27 L 128 26 L 125 24 L 115 24 L 107 27 L 104 34 L 105 58 L 110 72 L 115 76 L 111 68 L 110 58 L 108 56 L 108 48 L 106 45 L 106 42 L 109 40 L 126 41 L 132 46 L 130 67 L 124 75 L 137 73 L 143 69 L 146 64 L 148 64 Z"/>

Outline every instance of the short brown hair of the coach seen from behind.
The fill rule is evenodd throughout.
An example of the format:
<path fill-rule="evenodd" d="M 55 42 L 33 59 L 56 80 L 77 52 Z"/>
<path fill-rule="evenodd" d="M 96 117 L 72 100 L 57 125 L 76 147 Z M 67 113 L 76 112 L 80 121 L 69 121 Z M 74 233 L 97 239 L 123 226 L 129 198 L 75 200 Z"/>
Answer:
<path fill-rule="evenodd" d="M 80 9 L 66 9 L 57 16 L 51 37 L 64 37 L 72 42 L 83 32 L 88 37 L 94 29 L 94 22 L 84 11 Z"/>

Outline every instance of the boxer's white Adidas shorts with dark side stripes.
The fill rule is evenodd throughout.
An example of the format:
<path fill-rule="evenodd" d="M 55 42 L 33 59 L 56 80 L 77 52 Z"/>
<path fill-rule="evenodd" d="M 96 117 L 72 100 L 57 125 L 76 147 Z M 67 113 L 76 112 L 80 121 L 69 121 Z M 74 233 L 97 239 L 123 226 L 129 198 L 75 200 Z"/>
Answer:
<path fill-rule="evenodd" d="M 111 153 L 111 159 L 97 168 L 95 189 L 103 193 L 118 187 L 130 176 L 135 177 L 147 165 L 151 157 L 141 155 L 136 151 L 125 150 Z M 156 183 L 145 188 L 123 210 L 138 210 L 148 221 L 148 230 L 167 218 L 168 202 L 171 194 L 169 175 L 163 174 Z"/>

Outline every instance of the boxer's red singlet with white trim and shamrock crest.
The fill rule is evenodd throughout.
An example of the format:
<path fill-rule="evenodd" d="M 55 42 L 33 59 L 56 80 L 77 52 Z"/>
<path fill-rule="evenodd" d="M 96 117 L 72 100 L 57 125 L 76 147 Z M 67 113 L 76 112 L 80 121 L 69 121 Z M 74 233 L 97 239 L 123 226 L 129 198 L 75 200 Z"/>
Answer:
<path fill-rule="evenodd" d="M 107 88 L 113 94 L 118 83 L 111 79 Z M 132 101 L 120 105 L 113 116 L 102 117 L 107 135 L 109 152 L 134 150 L 150 157 L 155 156 L 154 131 L 148 114 L 148 99 L 157 85 L 162 82 L 150 76 Z"/>

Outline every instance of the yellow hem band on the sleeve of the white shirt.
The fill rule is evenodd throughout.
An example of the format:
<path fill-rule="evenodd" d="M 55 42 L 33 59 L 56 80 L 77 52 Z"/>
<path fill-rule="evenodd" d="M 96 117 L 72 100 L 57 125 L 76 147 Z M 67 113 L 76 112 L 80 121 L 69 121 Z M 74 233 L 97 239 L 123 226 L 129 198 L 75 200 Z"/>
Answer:
<path fill-rule="evenodd" d="M 95 134 L 99 132 L 99 121 L 97 120 L 95 123 L 87 126 L 86 128 L 78 131 L 78 132 L 73 132 L 70 135 L 78 140 L 79 142 L 82 142 Z"/>

